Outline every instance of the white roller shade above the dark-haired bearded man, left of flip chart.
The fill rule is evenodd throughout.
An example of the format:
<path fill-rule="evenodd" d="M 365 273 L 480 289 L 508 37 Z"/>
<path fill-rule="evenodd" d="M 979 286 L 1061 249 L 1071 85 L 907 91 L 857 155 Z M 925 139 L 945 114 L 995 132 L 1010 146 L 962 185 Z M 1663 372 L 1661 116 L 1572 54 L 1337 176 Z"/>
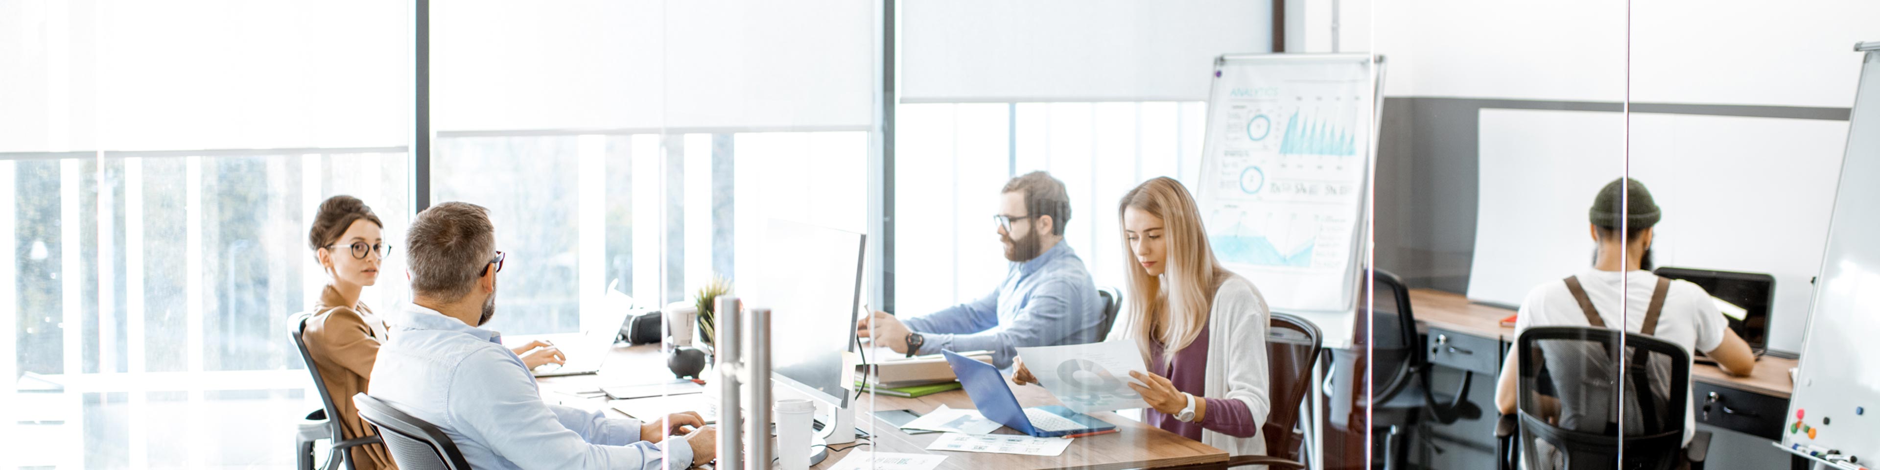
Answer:
<path fill-rule="evenodd" d="M 1265 0 L 901 6 L 904 102 L 1201 102 L 1214 56 L 1273 49 Z"/>

